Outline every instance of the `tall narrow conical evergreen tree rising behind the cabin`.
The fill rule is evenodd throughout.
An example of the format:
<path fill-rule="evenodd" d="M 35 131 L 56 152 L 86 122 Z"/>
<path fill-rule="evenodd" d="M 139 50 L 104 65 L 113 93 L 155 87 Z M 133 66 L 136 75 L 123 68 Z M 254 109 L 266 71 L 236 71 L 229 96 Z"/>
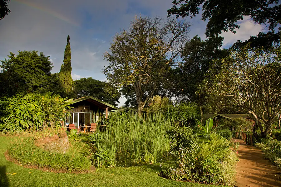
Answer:
<path fill-rule="evenodd" d="M 73 79 L 71 77 L 71 51 L 70 51 L 70 38 L 67 36 L 67 45 L 64 51 L 64 60 L 61 70 L 59 72 L 59 79 L 64 89 L 65 96 L 72 95 L 73 92 Z"/>

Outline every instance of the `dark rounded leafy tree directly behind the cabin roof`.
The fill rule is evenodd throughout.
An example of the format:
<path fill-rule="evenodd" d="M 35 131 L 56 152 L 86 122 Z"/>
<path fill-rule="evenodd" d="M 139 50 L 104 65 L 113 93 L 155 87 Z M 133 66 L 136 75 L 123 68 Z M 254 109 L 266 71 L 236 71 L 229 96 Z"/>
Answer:
<path fill-rule="evenodd" d="M 81 78 L 74 81 L 74 92 L 77 95 L 77 98 L 85 96 L 93 96 L 102 101 L 110 103 L 114 106 L 117 106 L 116 103 L 119 103 L 120 93 L 117 93 L 116 96 L 111 96 L 106 92 L 106 83 L 89 78 Z"/>

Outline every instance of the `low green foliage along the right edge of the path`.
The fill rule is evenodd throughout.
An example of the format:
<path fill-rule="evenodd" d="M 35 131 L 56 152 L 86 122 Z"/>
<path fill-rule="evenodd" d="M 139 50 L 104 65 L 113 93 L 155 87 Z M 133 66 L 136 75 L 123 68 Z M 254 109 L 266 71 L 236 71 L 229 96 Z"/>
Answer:
<path fill-rule="evenodd" d="M 269 161 L 281 168 L 281 141 L 269 138 L 262 143 L 255 143 L 255 146 L 264 152 Z"/>

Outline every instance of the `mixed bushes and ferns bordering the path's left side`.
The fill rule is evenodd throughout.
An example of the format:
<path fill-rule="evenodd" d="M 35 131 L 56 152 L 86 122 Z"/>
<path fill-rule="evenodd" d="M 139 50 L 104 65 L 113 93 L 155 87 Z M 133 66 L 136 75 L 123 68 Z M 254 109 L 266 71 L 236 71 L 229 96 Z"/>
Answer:
<path fill-rule="evenodd" d="M 189 130 L 186 131 L 185 134 L 182 133 L 183 139 L 187 139 L 185 135 L 188 135 L 189 139 L 193 141 L 195 135 L 191 134 Z M 180 143 L 182 138 L 176 138 L 176 135 L 177 133 L 170 136 L 175 141 L 179 141 L 174 145 L 182 145 Z M 192 142 L 190 140 L 187 142 Z M 238 156 L 230 150 L 234 146 L 232 142 L 213 134 L 210 136 L 210 141 L 204 142 L 200 146 L 196 144 L 191 146 L 189 143 L 186 145 L 187 147 L 184 148 L 173 146 L 178 147 L 175 149 L 175 153 L 179 158 L 176 158 L 174 167 L 163 170 L 164 175 L 173 180 L 234 185 L 235 164 L 238 161 Z M 184 154 L 185 152 L 182 152 L 181 149 L 188 150 L 187 154 Z"/>

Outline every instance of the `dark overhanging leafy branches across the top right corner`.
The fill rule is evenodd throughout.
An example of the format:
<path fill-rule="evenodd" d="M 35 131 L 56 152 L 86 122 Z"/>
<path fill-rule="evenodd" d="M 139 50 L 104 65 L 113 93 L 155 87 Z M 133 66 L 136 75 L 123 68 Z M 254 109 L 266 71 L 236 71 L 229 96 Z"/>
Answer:
<path fill-rule="evenodd" d="M 185 2 L 185 3 L 184 3 Z M 206 36 L 217 36 L 222 31 L 238 29 L 239 20 L 250 16 L 259 24 L 269 24 L 269 31 L 274 31 L 281 24 L 281 3 L 278 0 L 174 0 L 168 15 L 177 17 L 195 17 L 202 6 L 202 20 L 208 20 Z M 280 27 L 279 27 L 280 31 Z"/>

